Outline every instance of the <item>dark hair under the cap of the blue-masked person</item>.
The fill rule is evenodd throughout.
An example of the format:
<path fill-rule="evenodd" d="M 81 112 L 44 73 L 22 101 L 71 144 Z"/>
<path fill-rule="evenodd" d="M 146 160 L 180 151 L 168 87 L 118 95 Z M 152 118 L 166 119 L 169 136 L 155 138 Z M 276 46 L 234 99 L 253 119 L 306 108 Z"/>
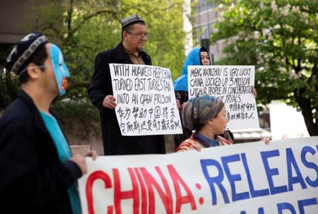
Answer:
<path fill-rule="evenodd" d="M 40 66 L 41 71 L 45 71 L 45 68 L 42 66 L 44 66 L 45 60 L 47 59 L 47 57 L 48 57 L 47 49 L 45 45 L 37 49 L 37 51 L 33 54 L 33 56 L 30 59 L 28 59 L 28 61 L 26 61 L 25 64 L 23 65 L 22 70 L 25 70 L 25 71 L 20 73 L 19 75 L 20 83 L 28 82 L 28 79 L 30 78 L 30 76 L 28 74 L 28 71 L 26 70 L 28 69 L 28 65 L 30 63 L 34 63 L 35 65 Z"/>

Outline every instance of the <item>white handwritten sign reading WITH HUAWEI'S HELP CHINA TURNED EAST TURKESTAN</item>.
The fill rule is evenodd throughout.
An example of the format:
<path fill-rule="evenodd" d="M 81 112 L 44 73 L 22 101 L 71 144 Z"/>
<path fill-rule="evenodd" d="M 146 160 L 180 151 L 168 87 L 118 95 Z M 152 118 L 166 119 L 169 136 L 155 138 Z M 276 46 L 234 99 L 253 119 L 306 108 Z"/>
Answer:
<path fill-rule="evenodd" d="M 123 136 L 182 133 L 169 69 L 110 64 L 110 74 Z"/>

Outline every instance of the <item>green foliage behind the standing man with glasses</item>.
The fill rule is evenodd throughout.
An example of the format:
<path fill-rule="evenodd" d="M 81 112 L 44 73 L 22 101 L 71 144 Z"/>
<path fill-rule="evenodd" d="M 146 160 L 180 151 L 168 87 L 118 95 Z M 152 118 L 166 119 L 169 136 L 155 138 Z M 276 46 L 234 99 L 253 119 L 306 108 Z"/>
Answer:
<path fill-rule="evenodd" d="M 41 11 L 38 27 L 57 42 L 71 72 L 69 93 L 86 94 L 98 52 L 114 48 L 121 39 L 120 20 L 138 13 L 146 20 L 150 40 L 146 52 L 154 66 L 163 66 L 179 76 L 184 59 L 183 0 L 175 1 L 54 1 L 49 7 L 34 6 Z M 78 97 L 78 98 L 81 98 Z"/>

